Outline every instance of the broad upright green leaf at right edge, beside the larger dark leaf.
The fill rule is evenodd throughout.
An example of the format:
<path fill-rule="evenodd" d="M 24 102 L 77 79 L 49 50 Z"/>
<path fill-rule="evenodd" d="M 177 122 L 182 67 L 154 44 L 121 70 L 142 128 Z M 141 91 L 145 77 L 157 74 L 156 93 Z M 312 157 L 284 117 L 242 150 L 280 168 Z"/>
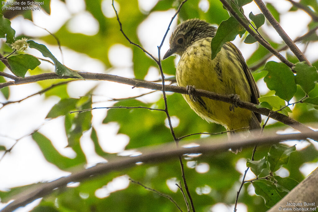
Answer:
<path fill-rule="evenodd" d="M 304 92 L 308 94 L 315 88 L 315 84 L 318 81 L 318 74 L 315 67 L 301 62 L 295 65 L 294 71 L 296 71 L 295 82 L 301 86 Z"/>

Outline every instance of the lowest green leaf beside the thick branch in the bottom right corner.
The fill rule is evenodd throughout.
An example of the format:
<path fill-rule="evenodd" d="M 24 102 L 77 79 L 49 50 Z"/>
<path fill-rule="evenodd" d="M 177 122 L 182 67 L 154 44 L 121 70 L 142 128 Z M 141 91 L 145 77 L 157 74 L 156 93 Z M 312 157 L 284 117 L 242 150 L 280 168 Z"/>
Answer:
<path fill-rule="evenodd" d="M 274 206 L 278 201 L 280 201 L 281 197 L 277 193 L 275 189 L 271 186 L 267 185 L 265 182 L 254 181 L 252 185 L 255 188 L 255 194 L 263 197 L 265 200 L 265 205 L 268 208 Z"/>

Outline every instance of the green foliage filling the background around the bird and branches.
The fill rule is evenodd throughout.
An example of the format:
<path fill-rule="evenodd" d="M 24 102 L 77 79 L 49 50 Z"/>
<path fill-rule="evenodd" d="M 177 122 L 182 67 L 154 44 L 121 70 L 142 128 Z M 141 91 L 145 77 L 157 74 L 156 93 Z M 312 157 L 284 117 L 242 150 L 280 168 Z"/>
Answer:
<path fill-rule="evenodd" d="M 62 2 L 64 3 L 64 1 Z M 166 11 L 171 8 L 176 10 L 181 3 L 180 0 L 160 0 L 150 11 L 144 11 L 139 9 L 137 0 L 117 0 L 116 2 L 120 5 L 120 7 L 116 9 L 119 11 L 122 30 L 132 42 L 137 44 L 141 43 L 137 36 L 138 26 L 147 19 L 152 12 Z M 235 10 L 240 13 L 243 11 L 241 6 L 251 2 L 251 0 L 236 0 L 230 2 L 232 6 L 237 6 Z M 67 26 L 74 15 L 72 14 L 69 20 L 54 33 L 55 36 L 59 39 L 59 43 L 62 46 L 79 53 L 84 53 L 91 58 L 98 59 L 105 65 L 107 70 L 114 68 L 107 57 L 109 49 L 114 44 L 122 44 L 132 50 L 132 69 L 135 78 L 144 79 L 149 68 L 153 66 L 156 67 L 156 63 L 139 48 L 129 44 L 128 40 L 124 38 L 119 30 L 120 26 L 116 17 L 107 18 L 104 16 L 101 8 L 102 3 L 102 0 L 85 0 L 86 12 L 90 13 L 99 24 L 99 31 L 95 35 L 70 32 Z M 220 25 L 217 35 L 212 39 L 211 43 L 212 49 L 214 50 L 213 52 L 216 54 L 222 44 L 233 40 L 238 34 L 242 36 L 245 30 L 241 28 L 233 17 L 229 16 L 220 1 L 208 1 L 209 7 L 207 10 L 201 9 L 201 3 L 202 1 L 200 0 L 187 1 L 177 16 L 178 23 L 189 18 L 200 18 L 211 24 Z M 318 4 L 315 1 L 301 0 L 301 3 L 310 6 L 315 12 L 318 10 Z M 49 5 L 50 0 L 46 0 L 42 7 L 48 14 L 51 12 Z M 117 4 L 115 4 L 115 6 L 116 5 Z M 281 14 L 279 10 L 270 3 L 267 3 L 266 6 L 272 12 L 275 19 L 280 21 Z M 107 7 L 111 8 L 111 5 L 107 5 Z M 297 8 L 293 7 L 290 9 L 290 11 L 295 10 L 297 10 Z M 7 12 L 8 11 L 3 12 L 4 17 L 0 14 L 0 37 L 4 38 L 3 40 L 6 42 L 2 43 L 0 53 L 4 56 L 12 52 L 10 44 L 13 43 L 14 40 L 28 37 L 19 35 L 15 38 L 15 31 L 10 26 L 10 20 L 5 18 L 10 15 Z M 248 13 L 250 21 L 252 21 L 251 23 L 254 24 L 255 28 L 262 34 L 262 25 L 265 22 L 264 16 L 262 14 L 254 15 L 250 11 Z M 19 14 L 26 19 L 32 20 L 30 11 L 22 11 Z M 240 14 L 240 16 L 243 17 L 242 14 Z M 152 24 L 156 25 L 157 23 Z M 308 29 L 313 29 L 317 24 L 318 23 L 314 21 L 310 22 Z M 276 49 L 283 45 L 272 41 L 266 33 L 264 33 L 263 36 Z M 56 46 L 57 40 L 52 35 L 36 38 L 39 43 L 35 43 L 31 40 L 35 38 L 28 38 L 28 43 L 31 48 L 40 51 L 44 57 L 52 59 L 57 74 L 79 77 L 76 72 L 62 65 L 58 59 L 52 55 L 50 50 L 41 44 L 41 42 L 43 42 Z M 254 43 L 255 40 L 253 39 L 254 38 L 250 35 L 247 35 L 244 42 Z M 317 42 L 317 40 L 318 36 L 315 33 L 306 38 L 306 42 Z M 268 50 L 258 45 L 257 49 L 252 52 L 251 57 L 246 60 L 247 65 L 252 66 L 258 64 L 268 53 Z M 154 56 L 156 57 L 156 55 Z M 256 81 L 264 80 L 268 89 L 271 90 L 259 99 L 261 102 L 259 107 L 281 110 L 280 113 L 290 115 L 300 122 L 317 122 L 318 61 L 313 61 L 313 67 L 310 67 L 304 63 L 299 63 L 292 55 L 287 55 L 287 59 L 296 63 L 294 68 L 297 72 L 296 75 L 285 64 L 273 61 L 267 62 L 266 65 L 262 65 L 261 68 L 253 73 Z M 39 60 L 37 58 L 20 51 L 10 56 L 8 62 L 12 67 L 13 73 L 19 77 L 24 77 L 28 70 L 33 70 L 32 72 L 29 71 L 31 75 L 47 72 L 38 66 Z M 174 75 L 174 59 L 171 57 L 164 60 L 162 62 L 162 68 L 165 74 Z M 0 71 L 3 72 L 4 69 L 5 65 L 0 63 Z M 0 83 L 6 82 L 6 80 L 6 78 L 0 76 Z M 63 81 L 65 80 L 54 79 L 39 81 L 38 85 L 45 89 Z M 11 92 L 8 87 L 0 91 L 5 99 L 10 98 Z M 54 164 L 61 170 L 73 171 L 86 167 L 86 155 L 81 148 L 79 140 L 83 133 L 87 131 L 90 133 L 96 154 L 104 157 L 106 160 L 111 157 L 119 157 L 105 152 L 101 147 L 102 145 L 100 144 L 103 140 L 98 137 L 98 132 L 92 127 L 93 114 L 90 111 L 70 113 L 90 109 L 92 107 L 93 94 L 94 88 L 87 92 L 85 96 L 71 98 L 72 95 L 67 93 L 67 84 L 56 86 L 45 92 L 45 97 L 56 96 L 60 99 L 59 102 L 51 108 L 46 118 L 54 119 L 60 116 L 65 118 L 65 132 L 56 133 L 66 134 L 68 147 L 74 150 L 76 156 L 71 159 L 60 154 L 53 146 L 51 140 L 39 132 L 34 132 L 32 139 L 42 151 L 46 161 Z M 306 95 L 308 95 L 308 97 Z M 304 103 L 295 104 L 293 110 L 291 110 L 289 107 L 286 107 L 286 105 L 293 103 L 294 99 L 296 99 L 296 101 L 302 99 Z M 177 127 L 174 127 L 177 137 L 191 133 L 218 133 L 225 131 L 223 126 L 215 123 L 207 123 L 199 118 L 197 114 L 190 109 L 180 94 L 168 94 L 167 103 L 170 116 L 178 121 Z M 161 109 L 164 108 L 164 101 L 161 98 L 156 102 L 145 103 L 138 99 L 124 99 L 114 103 L 114 106 L 143 106 Z M 129 143 L 126 146 L 127 150 L 154 146 L 173 140 L 170 129 L 165 124 L 167 122 L 166 114 L 162 111 L 140 108 L 110 109 L 107 111 L 107 115 L 102 123 L 108 124 L 111 122 L 116 122 L 119 125 L 118 134 L 121 133 L 129 136 Z M 266 128 L 281 126 L 283 126 L 283 124 L 276 122 L 267 125 Z M 200 135 L 193 135 L 184 138 L 184 140 L 199 139 L 200 137 Z M 219 135 L 211 135 L 210 137 L 217 140 Z M 180 144 L 182 144 L 182 141 L 183 140 L 180 141 Z M 0 142 L 0 151 L 5 150 L 6 147 L 1 145 Z M 201 156 L 185 155 L 184 171 L 196 211 L 210 211 L 211 207 L 216 203 L 221 202 L 230 206 L 235 202 L 236 192 L 241 184 L 240 177 L 242 176 L 242 173 L 237 171 L 237 163 L 238 161 L 246 160 L 247 166 L 251 168 L 251 171 L 256 176 L 259 178 L 266 177 L 266 179 L 245 183 L 239 196 L 239 202 L 244 203 L 248 211 L 266 211 L 268 207 L 273 206 L 273 204 L 278 202 L 294 188 L 298 182 L 304 179 L 304 176 L 300 172 L 300 167 L 307 162 L 317 162 L 317 155 L 317 149 L 309 143 L 307 147 L 297 151 L 295 151 L 294 146 L 288 147 L 286 145 L 258 147 L 254 155 L 254 161 L 250 159 L 252 156 L 252 148 L 243 149 L 243 151 L 237 155 L 230 152 Z M 197 167 L 203 163 L 206 163 L 209 169 L 205 173 L 199 173 Z M 281 167 L 288 170 L 288 177 L 280 177 L 276 173 Z M 120 189 L 114 189 L 112 183 L 118 179 L 118 177 L 123 177 L 126 180 L 128 177 L 132 178 L 149 188 L 167 194 L 186 211 L 186 206 L 180 191 L 172 191 L 167 186 L 168 180 L 173 179 L 176 182 L 182 181 L 180 164 L 177 160 L 167 162 L 158 161 L 156 164 L 141 164 L 126 170 L 94 177 L 76 186 L 69 185 L 61 191 L 55 191 L 51 195 L 44 197 L 33 211 L 178 211 L 176 206 L 168 199 L 146 190 L 139 185 L 129 183 L 127 188 L 123 186 Z M 248 186 L 250 184 L 254 186 L 257 195 L 251 195 L 250 192 L 248 192 Z M 11 188 L 6 192 L 0 192 L 1 201 L 8 202 L 15 195 L 30 188 L 36 189 L 38 186 L 41 186 L 41 183 Z M 209 192 L 205 192 L 206 190 Z M 97 197 L 100 191 L 104 191 L 105 197 Z M 275 195 L 269 196 L 269 193 Z"/>

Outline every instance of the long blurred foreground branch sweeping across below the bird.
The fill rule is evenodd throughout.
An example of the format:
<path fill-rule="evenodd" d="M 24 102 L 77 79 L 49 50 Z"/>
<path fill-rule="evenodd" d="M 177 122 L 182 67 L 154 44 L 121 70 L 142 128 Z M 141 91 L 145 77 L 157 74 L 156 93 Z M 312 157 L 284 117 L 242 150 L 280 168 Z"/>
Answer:
<path fill-rule="evenodd" d="M 161 145 L 159 147 L 145 148 L 139 150 L 142 155 L 136 157 L 114 157 L 110 158 L 107 163 L 97 164 L 92 168 L 87 168 L 75 172 L 67 177 L 61 177 L 55 181 L 38 183 L 37 186 L 23 192 L 23 194 L 13 197 L 15 200 L 8 204 L 2 212 L 13 211 L 18 207 L 24 206 L 38 198 L 50 195 L 58 188 L 65 188 L 69 182 L 81 182 L 91 180 L 100 175 L 105 175 L 111 171 L 118 171 L 124 168 L 134 167 L 137 162 L 158 163 L 158 161 L 175 159 L 178 155 L 190 153 L 206 153 L 216 154 L 226 152 L 229 148 L 252 147 L 255 145 L 271 145 L 285 140 L 304 140 L 308 137 L 315 137 L 318 132 L 297 133 L 297 134 L 282 134 L 278 135 L 271 131 L 260 137 L 259 133 L 255 136 L 250 135 L 247 138 L 242 138 L 240 135 L 228 141 L 226 136 L 216 142 L 215 139 L 192 140 L 189 143 L 197 143 L 200 146 L 192 148 L 175 147 L 175 143 Z M 188 143 L 188 142 L 187 142 Z M 108 159 L 108 158 L 107 158 Z"/>

